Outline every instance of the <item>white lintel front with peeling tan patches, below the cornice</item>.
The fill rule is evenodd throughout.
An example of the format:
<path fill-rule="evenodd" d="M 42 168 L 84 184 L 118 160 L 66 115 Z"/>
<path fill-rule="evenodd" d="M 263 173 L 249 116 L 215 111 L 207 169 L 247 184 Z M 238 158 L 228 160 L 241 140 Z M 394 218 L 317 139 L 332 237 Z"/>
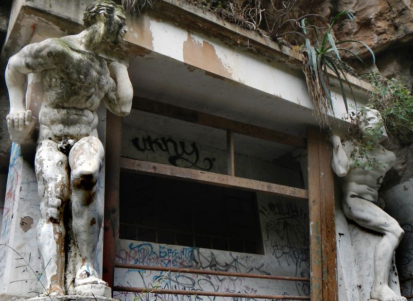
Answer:
<path fill-rule="evenodd" d="M 205 70 L 208 75 L 222 77 L 253 89 L 268 93 L 282 100 L 312 108 L 307 85 L 301 71 L 287 67 L 279 59 L 268 59 L 243 49 L 225 45 L 222 41 L 203 33 L 191 32 L 144 13 L 128 23 L 125 40 L 162 55 Z M 338 83 L 332 81 L 333 86 Z M 345 112 L 340 89 L 333 87 L 335 116 Z M 363 103 L 366 96 L 358 93 L 357 101 Z M 347 91 L 347 96 L 351 95 Z M 352 97 L 349 103 L 354 102 Z M 360 103 L 358 103 L 360 105 Z"/>

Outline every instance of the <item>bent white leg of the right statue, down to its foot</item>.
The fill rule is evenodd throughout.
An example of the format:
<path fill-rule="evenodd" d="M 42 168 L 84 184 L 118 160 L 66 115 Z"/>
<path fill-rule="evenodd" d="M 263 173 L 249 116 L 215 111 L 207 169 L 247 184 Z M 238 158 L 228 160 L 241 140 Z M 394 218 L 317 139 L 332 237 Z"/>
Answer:
<path fill-rule="evenodd" d="M 406 300 L 389 287 L 393 254 L 404 231 L 393 217 L 370 201 L 353 197 L 344 199 L 344 214 L 362 227 L 377 231 L 383 237 L 374 251 L 374 282 L 371 298 L 380 301 Z"/>

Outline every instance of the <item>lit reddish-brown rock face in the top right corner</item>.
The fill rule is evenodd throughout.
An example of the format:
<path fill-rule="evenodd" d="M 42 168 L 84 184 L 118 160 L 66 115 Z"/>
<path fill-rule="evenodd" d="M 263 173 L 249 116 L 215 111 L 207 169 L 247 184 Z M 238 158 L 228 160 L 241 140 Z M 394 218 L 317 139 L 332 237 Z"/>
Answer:
<path fill-rule="evenodd" d="M 376 66 L 384 76 L 404 77 L 406 84 L 412 87 L 413 1 L 321 0 L 315 5 L 313 2 L 305 1 L 299 9 L 303 14 L 319 14 L 322 20 L 329 20 L 344 10 L 352 12 L 356 19 L 339 19 L 334 27 L 335 36 L 340 40 L 354 39 L 366 43 L 374 51 Z M 362 58 L 369 56 L 361 44 L 352 43 L 346 47 Z M 361 73 L 366 70 L 364 66 L 354 67 Z"/>

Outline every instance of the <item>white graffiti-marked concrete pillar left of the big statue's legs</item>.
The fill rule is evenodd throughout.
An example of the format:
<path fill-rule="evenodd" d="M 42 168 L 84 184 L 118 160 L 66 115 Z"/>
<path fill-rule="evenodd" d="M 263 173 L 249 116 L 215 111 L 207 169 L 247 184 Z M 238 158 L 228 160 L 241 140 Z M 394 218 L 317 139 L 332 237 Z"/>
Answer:
<path fill-rule="evenodd" d="M 25 160 L 20 145 L 13 143 L 0 234 L 1 301 L 10 300 L 12 296 L 34 297 L 36 293 L 29 292 L 42 292 L 38 280 L 43 269 L 36 243 L 38 219 L 33 163 Z"/>

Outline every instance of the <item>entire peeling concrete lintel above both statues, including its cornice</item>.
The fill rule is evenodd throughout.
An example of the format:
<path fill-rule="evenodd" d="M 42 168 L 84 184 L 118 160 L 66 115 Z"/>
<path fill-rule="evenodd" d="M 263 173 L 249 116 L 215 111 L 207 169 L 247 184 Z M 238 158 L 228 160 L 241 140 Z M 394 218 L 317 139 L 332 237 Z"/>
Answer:
<path fill-rule="evenodd" d="M 13 11 L 16 17 L 9 26 L 2 62 L 5 63 L 10 55 L 29 43 L 80 32 L 83 29 L 82 15 L 89 0 L 75 1 L 70 10 L 68 4 L 63 2 L 16 0 L 18 5 Z M 122 44 L 112 49 L 115 51 L 105 51 L 103 56 L 111 58 L 114 53 L 122 53 L 156 59 L 160 54 L 183 64 L 192 75 L 194 70 L 205 71 L 210 77 L 229 81 L 231 85 L 260 91 L 274 98 L 275 102 L 285 100 L 297 109 L 312 109 L 298 52 L 279 47 L 269 38 L 242 30 L 210 12 L 179 0 L 157 0 L 152 10 L 148 9 L 140 16 L 129 15 L 127 23 L 129 32 Z M 131 66 L 131 76 L 134 73 L 132 70 L 140 67 L 141 61 L 138 63 Z M 149 64 L 148 67 L 154 66 Z M 173 67 L 162 71 L 168 74 Z M 369 84 L 351 76 L 348 78 L 358 95 L 358 102 L 365 102 Z M 337 98 L 335 119 L 340 119 L 345 112 L 342 95 L 334 79 L 332 85 Z"/>

